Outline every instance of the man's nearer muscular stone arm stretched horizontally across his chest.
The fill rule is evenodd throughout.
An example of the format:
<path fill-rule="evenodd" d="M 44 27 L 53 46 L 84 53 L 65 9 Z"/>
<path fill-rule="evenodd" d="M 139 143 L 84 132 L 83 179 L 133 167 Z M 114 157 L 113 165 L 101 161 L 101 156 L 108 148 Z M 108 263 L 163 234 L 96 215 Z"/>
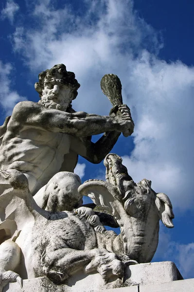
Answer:
<path fill-rule="evenodd" d="M 16 105 L 12 123 L 20 126 L 33 126 L 48 131 L 86 137 L 106 131 L 121 132 L 130 127 L 127 116 L 100 116 L 80 111 L 75 113 L 46 109 L 33 102 L 20 102 Z M 19 125 L 20 124 L 20 125 Z"/>

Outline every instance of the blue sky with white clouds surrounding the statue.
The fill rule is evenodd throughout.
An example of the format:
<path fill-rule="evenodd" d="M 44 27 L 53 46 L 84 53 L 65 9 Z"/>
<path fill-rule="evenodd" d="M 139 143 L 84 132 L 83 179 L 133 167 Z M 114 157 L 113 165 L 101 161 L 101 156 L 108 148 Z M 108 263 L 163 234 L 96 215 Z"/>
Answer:
<path fill-rule="evenodd" d="M 100 80 L 117 74 L 136 126 L 112 152 L 134 181 L 170 197 L 175 228 L 161 225 L 153 260 L 174 261 L 185 278 L 194 277 L 193 11 L 190 0 L 0 3 L 0 123 L 17 102 L 38 101 L 37 75 L 57 63 L 81 84 L 73 108 L 107 115 Z M 104 178 L 105 168 L 80 158 L 77 173 Z"/>

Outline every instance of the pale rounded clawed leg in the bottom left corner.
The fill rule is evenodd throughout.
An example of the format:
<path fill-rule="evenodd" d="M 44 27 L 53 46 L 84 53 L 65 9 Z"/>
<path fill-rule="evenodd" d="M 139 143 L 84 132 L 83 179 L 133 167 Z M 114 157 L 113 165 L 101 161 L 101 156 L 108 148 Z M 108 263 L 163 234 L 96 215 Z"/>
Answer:
<path fill-rule="evenodd" d="M 18 282 L 22 287 L 22 279 L 13 272 L 20 262 L 18 244 L 8 239 L 0 245 L 0 292 L 10 282 Z"/>

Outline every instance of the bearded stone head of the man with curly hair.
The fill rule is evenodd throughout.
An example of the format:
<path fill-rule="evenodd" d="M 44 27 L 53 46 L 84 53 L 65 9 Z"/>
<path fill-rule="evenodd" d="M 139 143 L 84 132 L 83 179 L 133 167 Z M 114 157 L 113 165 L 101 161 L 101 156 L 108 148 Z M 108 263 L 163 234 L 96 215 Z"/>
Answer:
<path fill-rule="evenodd" d="M 68 72 L 64 64 L 58 64 L 41 72 L 38 77 L 35 90 L 40 96 L 39 104 L 49 109 L 67 110 L 80 87 L 75 74 Z"/>

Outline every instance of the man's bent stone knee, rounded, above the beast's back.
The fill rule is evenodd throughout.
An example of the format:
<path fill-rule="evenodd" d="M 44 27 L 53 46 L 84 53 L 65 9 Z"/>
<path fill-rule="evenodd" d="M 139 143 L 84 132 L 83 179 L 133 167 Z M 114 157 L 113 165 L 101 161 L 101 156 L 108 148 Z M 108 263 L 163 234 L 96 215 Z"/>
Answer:
<path fill-rule="evenodd" d="M 82 202 L 82 196 L 77 191 L 80 185 L 77 174 L 61 171 L 35 194 L 34 199 L 39 207 L 47 211 L 72 211 Z"/>

